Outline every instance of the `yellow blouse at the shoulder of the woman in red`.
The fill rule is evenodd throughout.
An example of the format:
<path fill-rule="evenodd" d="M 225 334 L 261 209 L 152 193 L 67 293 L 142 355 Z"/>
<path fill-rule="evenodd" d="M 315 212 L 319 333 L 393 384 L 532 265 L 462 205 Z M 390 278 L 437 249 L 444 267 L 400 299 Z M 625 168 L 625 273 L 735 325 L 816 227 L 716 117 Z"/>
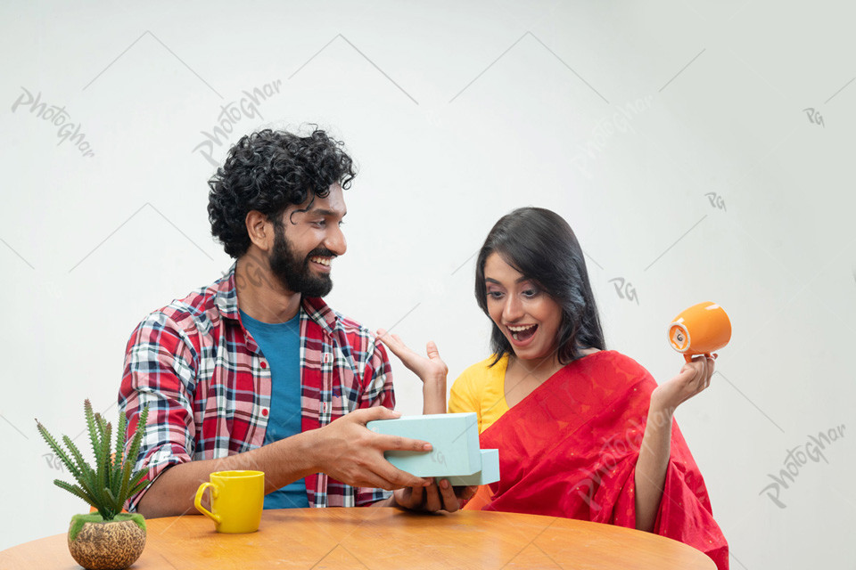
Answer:
<path fill-rule="evenodd" d="M 508 355 L 490 367 L 495 356 L 473 364 L 457 377 L 449 394 L 449 413 L 474 411 L 479 417 L 479 433 L 508 411 L 506 368 Z"/>

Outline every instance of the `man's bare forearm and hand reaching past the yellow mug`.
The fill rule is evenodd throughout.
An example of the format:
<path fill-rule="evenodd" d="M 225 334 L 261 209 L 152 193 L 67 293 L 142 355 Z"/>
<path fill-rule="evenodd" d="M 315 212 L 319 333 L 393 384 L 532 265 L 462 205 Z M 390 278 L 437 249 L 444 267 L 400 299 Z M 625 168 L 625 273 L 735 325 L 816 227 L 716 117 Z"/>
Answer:
<path fill-rule="evenodd" d="M 253 469 L 265 472 L 265 493 L 323 472 L 347 485 L 399 489 L 429 482 L 401 471 L 383 458 L 386 450 L 427 452 L 431 445 L 366 429 L 373 419 L 393 419 L 399 412 L 383 407 L 352 411 L 324 428 L 287 437 L 250 452 L 217 460 L 197 460 L 168 468 L 150 485 L 137 510 L 146 518 L 195 513 L 196 490 L 214 471 Z"/>

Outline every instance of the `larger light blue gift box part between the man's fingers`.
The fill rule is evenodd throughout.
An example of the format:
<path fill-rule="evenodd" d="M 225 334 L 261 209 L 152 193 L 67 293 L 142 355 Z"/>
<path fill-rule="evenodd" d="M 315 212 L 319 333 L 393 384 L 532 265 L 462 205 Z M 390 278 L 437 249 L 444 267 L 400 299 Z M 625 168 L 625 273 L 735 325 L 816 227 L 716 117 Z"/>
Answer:
<path fill-rule="evenodd" d="M 366 428 L 378 434 L 421 439 L 432 444 L 431 452 L 383 452 L 392 465 L 412 475 L 472 476 L 481 471 L 478 417 L 472 411 L 375 419 L 368 422 Z"/>

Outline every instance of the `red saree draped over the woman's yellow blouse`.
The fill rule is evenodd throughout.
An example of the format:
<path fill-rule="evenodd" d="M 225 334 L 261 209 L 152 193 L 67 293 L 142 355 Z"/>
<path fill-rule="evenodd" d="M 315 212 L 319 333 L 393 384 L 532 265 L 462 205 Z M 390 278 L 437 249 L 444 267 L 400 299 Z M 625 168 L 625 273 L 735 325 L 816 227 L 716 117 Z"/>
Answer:
<path fill-rule="evenodd" d="M 571 362 L 481 434 L 481 448 L 499 449 L 502 478 L 473 502 L 635 528 L 636 461 L 654 387 L 648 371 L 615 351 Z M 677 423 L 654 533 L 728 569 L 728 543 Z"/>

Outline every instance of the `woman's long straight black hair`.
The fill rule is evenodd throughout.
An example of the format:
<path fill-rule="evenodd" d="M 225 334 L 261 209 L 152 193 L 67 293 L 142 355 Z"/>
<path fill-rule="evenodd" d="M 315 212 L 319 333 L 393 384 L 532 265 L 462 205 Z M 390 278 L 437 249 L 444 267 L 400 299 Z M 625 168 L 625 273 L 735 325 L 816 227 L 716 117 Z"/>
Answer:
<path fill-rule="evenodd" d="M 581 348 L 605 350 L 586 261 L 577 237 L 562 216 L 544 208 L 518 208 L 494 224 L 481 246 L 475 267 L 475 298 L 489 317 L 484 263 L 492 253 L 537 283 L 562 307 L 562 321 L 556 335 L 560 363 L 579 358 Z M 496 354 L 491 366 L 504 355 L 514 354 L 511 343 L 495 322 L 490 331 L 490 349 Z"/>

